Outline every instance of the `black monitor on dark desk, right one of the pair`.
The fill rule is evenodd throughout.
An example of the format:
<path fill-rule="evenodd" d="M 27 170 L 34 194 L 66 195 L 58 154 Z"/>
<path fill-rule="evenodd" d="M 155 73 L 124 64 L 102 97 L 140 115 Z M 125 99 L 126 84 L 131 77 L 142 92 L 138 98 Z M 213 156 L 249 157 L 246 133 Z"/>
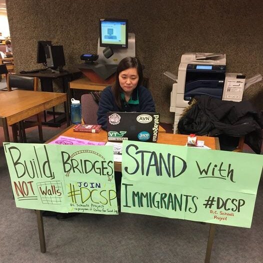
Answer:
<path fill-rule="evenodd" d="M 65 65 L 64 51 L 62 45 L 46 45 L 44 47 L 46 64 L 52 69 Z"/>

